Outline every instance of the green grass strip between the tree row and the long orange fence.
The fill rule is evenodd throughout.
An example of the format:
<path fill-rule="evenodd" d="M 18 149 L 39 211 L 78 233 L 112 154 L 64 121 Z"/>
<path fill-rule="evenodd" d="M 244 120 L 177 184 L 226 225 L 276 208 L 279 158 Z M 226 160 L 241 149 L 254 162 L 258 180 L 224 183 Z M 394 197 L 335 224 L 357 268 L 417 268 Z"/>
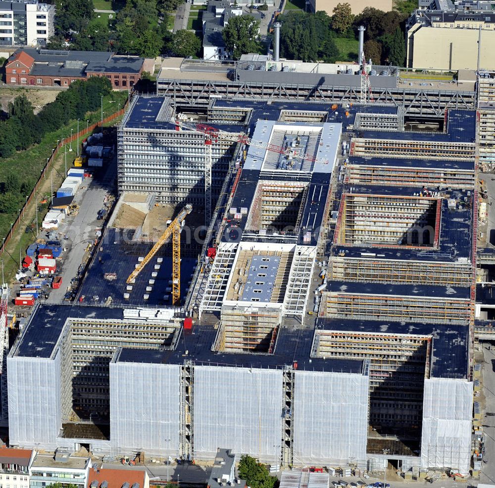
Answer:
<path fill-rule="evenodd" d="M 103 115 L 108 116 L 111 113 L 114 113 L 118 109 L 118 103 L 122 105 L 125 103 L 127 99 L 127 92 L 112 92 L 110 95 L 103 98 L 103 111 L 105 112 Z M 101 112 L 100 110 L 96 110 L 95 112 L 88 113 L 84 120 L 89 120 L 90 124 L 97 122 L 100 119 Z M 108 123 L 108 125 L 113 125 L 115 120 L 112 120 Z M 70 129 L 74 129 L 74 132 L 77 130 L 77 120 L 71 120 L 68 125 L 64 126 L 61 129 L 58 129 L 55 132 L 50 132 L 46 134 L 41 143 L 37 144 L 26 151 L 19 151 L 14 154 L 10 158 L 4 158 L 0 161 L 0 181 L 5 181 L 6 175 L 16 168 L 22 168 L 20 172 L 20 180 L 21 183 L 23 181 L 29 181 L 29 183 L 34 186 L 36 180 L 39 175 L 43 171 L 47 163 L 47 158 L 51 155 L 52 149 L 56 147 L 57 139 L 63 137 L 67 137 L 70 135 Z M 80 121 L 79 129 L 83 128 L 83 122 Z M 86 136 L 84 136 L 86 137 Z M 81 138 L 82 140 L 83 138 Z M 74 148 L 76 142 L 72 143 L 72 147 Z M 53 189 L 58 189 L 60 184 L 64 179 L 65 168 L 61 164 L 63 152 L 59 153 L 60 165 L 57 170 L 52 170 L 53 174 Z M 74 155 L 71 154 L 71 163 L 74 159 Z M 67 158 L 67 163 L 69 163 L 69 159 Z M 52 166 L 53 167 L 53 166 Z M 56 167 L 56 165 L 55 165 Z M 37 195 L 38 200 L 41 200 L 43 197 L 49 197 L 49 185 L 50 185 L 50 173 L 47 174 L 46 181 L 48 182 L 46 188 L 47 190 L 43 190 L 41 195 Z M 32 187 L 31 186 L 31 187 Z M 22 204 L 21 204 L 22 205 Z M 19 205 L 19 208 L 21 207 Z M 35 199 L 31 202 L 29 207 L 25 211 L 25 217 L 21 217 L 21 251 L 23 255 L 25 255 L 26 248 L 32 244 L 35 240 L 35 236 L 33 233 L 26 234 L 24 232 L 27 225 L 31 223 L 36 223 L 35 218 L 35 208 L 36 203 Z M 48 208 L 46 205 L 40 208 L 38 213 L 39 223 L 43 221 L 45 214 Z M 7 236 L 10 231 L 10 224 L 15 221 L 17 218 L 17 212 L 12 214 L 0 214 L 0 235 Z M 5 254 L 2 256 L 4 259 L 4 272 L 5 278 L 9 280 L 13 277 L 13 274 L 18 268 L 19 261 L 19 230 L 16 229 L 12 234 L 12 240 L 6 244 L 5 246 Z"/>

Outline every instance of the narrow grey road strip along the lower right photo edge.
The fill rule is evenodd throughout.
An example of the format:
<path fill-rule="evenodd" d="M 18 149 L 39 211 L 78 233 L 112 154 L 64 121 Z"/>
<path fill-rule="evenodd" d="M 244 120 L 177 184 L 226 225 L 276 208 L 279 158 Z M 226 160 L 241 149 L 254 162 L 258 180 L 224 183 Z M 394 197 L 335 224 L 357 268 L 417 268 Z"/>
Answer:
<path fill-rule="evenodd" d="M 482 466 L 480 483 L 493 485 L 495 484 L 495 346 L 491 346 L 491 350 L 488 350 L 488 344 L 483 344 L 483 353 L 485 356 L 482 365 L 483 391 L 486 399 L 483 436 L 488 462 Z"/>

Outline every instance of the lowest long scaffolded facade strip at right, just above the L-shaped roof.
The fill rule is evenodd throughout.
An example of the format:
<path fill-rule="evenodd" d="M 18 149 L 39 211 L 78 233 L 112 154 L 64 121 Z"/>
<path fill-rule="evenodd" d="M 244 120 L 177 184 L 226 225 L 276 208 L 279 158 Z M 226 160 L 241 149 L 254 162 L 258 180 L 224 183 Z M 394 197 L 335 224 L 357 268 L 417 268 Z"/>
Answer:
<path fill-rule="evenodd" d="M 358 320 L 392 320 L 429 324 L 458 324 L 470 321 L 469 299 L 361 295 L 324 292 L 320 315 Z"/>

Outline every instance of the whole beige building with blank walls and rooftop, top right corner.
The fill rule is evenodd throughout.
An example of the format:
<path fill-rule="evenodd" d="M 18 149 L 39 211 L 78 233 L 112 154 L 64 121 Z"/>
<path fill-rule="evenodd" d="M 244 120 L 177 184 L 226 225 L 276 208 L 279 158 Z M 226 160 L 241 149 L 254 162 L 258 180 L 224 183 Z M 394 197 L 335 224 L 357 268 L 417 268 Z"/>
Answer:
<path fill-rule="evenodd" d="M 480 31 L 481 27 L 481 31 Z M 495 15 L 491 13 L 416 12 L 408 22 L 406 66 L 414 69 L 495 68 Z"/>

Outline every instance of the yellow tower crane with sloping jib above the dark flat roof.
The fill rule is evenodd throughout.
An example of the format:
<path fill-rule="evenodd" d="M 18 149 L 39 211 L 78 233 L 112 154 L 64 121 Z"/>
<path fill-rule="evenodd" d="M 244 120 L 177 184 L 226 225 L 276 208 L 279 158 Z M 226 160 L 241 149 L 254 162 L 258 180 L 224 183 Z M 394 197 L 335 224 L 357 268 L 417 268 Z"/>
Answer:
<path fill-rule="evenodd" d="M 145 256 L 145 259 L 139 263 L 139 266 L 127 278 L 127 284 L 132 283 L 143 268 L 153 259 L 165 241 L 172 236 L 172 304 L 177 305 L 181 296 L 181 228 L 182 223 L 187 215 L 193 211 L 192 205 L 186 205 L 172 223 L 166 228 L 165 232 L 158 239 L 151 251 Z"/>

